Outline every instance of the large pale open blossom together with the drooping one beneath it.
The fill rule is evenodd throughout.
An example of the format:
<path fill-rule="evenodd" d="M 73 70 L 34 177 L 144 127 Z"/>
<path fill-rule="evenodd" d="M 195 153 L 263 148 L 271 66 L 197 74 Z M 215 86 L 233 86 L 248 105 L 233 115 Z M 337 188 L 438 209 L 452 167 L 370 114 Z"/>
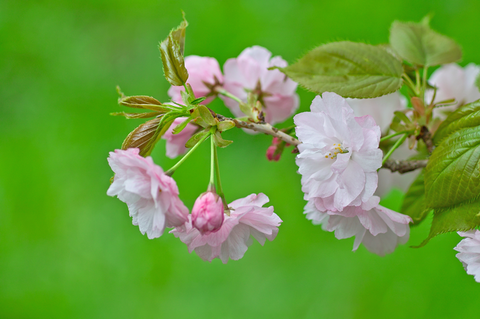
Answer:
<path fill-rule="evenodd" d="M 339 239 L 355 236 L 354 250 L 363 242 L 378 255 L 392 252 L 408 240 L 411 218 L 373 196 L 382 164 L 379 126 L 369 115 L 355 117 L 335 93 L 317 96 L 310 108 L 294 117 L 307 218 Z"/>

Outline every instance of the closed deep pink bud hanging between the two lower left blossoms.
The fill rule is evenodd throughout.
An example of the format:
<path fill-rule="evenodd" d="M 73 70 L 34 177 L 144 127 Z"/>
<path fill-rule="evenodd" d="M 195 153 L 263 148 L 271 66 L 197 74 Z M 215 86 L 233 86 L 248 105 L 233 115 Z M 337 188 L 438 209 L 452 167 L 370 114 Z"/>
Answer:
<path fill-rule="evenodd" d="M 192 209 L 192 223 L 202 234 L 214 233 L 223 224 L 223 202 L 213 192 L 200 195 Z"/>

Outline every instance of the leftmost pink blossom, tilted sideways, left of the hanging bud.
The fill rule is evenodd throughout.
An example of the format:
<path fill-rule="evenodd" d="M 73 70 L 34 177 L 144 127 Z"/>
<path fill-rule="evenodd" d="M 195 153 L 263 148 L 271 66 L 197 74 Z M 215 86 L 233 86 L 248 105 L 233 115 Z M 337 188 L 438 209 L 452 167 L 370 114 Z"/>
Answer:
<path fill-rule="evenodd" d="M 152 158 L 142 157 L 138 148 L 110 152 L 108 163 L 115 173 L 107 191 L 126 203 L 132 222 L 149 239 L 160 237 L 165 227 L 183 225 L 188 208 L 178 198 L 177 184 Z"/>

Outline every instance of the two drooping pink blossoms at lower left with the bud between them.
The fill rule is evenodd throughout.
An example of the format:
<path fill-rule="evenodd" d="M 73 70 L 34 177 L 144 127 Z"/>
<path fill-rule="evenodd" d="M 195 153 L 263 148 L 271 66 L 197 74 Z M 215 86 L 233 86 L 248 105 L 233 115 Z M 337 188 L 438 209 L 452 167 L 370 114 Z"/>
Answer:
<path fill-rule="evenodd" d="M 230 213 L 224 213 L 222 200 L 209 191 L 199 196 L 192 214 L 179 199 L 178 188 L 151 157 L 141 157 L 138 149 L 110 152 L 108 162 L 115 173 L 107 191 L 125 202 L 133 224 L 149 239 L 160 237 L 166 227 L 195 250 L 204 260 L 220 258 L 223 263 L 243 257 L 252 244 L 251 236 L 262 245 L 272 241 L 282 220 L 264 194 L 249 195 L 233 201 Z"/>

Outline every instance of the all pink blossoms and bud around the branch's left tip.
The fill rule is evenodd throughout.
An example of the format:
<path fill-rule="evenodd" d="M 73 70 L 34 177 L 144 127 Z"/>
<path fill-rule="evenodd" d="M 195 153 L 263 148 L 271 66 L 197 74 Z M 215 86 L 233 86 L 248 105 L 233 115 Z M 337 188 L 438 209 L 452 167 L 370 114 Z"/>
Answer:
<path fill-rule="evenodd" d="M 265 108 L 259 112 L 273 123 L 284 121 L 298 108 L 297 84 L 278 70 L 268 70 L 271 66 L 286 66 L 286 62 L 280 57 L 271 58 L 265 48 L 247 48 L 238 58 L 229 59 L 224 75 L 214 58 L 189 56 L 185 65 L 195 96 L 206 97 L 203 104 L 211 102 L 221 90 L 244 102 L 247 93 L 253 92 L 261 101 L 258 105 Z M 184 90 L 172 86 L 168 94 L 174 103 L 180 104 Z M 233 114 L 244 115 L 239 102 L 222 98 Z M 174 128 L 186 120 L 186 117 L 176 118 L 162 136 L 170 158 L 184 154 L 188 150 L 186 142 L 199 129 L 198 125 L 187 123 L 175 134 Z M 220 258 L 226 263 L 229 258 L 243 257 L 252 244 L 251 237 L 263 245 L 265 239 L 271 241 L 278 233 L 282 220 L 272 206 L 263 207 L 268 202 L 264 194 L 251 194 L 226 205 L 224 198 L 209 187 L 209 191 L 197 198 L 189 214 L 179 198 L 175 181 L 151 157 L 142 157 L 138 149 L 128 148 L 111 152 L 108 162 L 115 177 L 107 194 L 128 205 L 133 224 L 149 239 L 160 237 L 166 227 L 174 227 L 171 232 L 188 245 L 190 252 L 195 250 L 204 260 Z"/>

